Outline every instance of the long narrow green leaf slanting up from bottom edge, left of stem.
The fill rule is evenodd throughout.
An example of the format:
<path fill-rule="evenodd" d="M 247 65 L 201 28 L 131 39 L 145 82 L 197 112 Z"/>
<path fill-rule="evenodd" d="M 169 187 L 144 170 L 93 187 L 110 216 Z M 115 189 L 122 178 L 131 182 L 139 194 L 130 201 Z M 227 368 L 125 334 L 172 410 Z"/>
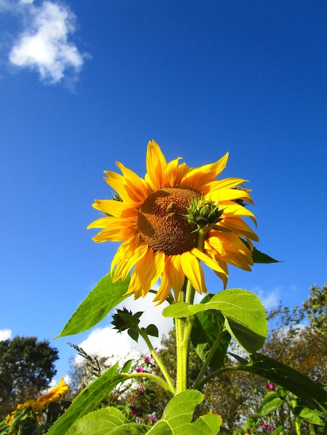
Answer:
<path fill-rule="evenodd" d="M 124 377 L 118 373 L 118 363 L 116 363 L 115 366 L 106 370 L 103 375 L 95 379 L 79 393 L 63 416 L 51 426 L 47 435 L 66 434 L 74 422 L 93 411 L 123 379 Z"/>

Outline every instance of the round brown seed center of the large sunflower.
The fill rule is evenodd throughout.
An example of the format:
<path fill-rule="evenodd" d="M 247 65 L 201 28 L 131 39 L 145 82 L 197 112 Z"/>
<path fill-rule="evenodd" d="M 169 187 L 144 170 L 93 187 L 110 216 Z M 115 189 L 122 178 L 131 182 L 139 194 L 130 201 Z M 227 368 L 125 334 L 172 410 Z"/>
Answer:
<path fill-rule="evenodd" d="M 186 207 L 201 194 L 192 188 L 162 188 L 145 199 L 139 212 L 137 227 L 141 238 L 154 252 L 177 255 L 196 246 L 196 226 L 187 222 Z"/>

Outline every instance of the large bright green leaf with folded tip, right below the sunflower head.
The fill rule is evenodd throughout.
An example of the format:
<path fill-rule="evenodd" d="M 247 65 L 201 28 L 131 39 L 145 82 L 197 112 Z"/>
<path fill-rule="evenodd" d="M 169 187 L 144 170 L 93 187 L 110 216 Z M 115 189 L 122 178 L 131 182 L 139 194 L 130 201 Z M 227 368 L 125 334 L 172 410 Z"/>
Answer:
<path fill-rule="evenodd" d="M 207 310 L 218 310 L 223 313 L 228 332 L 246 352 L 256 352 L 264 344 L 267 334 L 266 311 L 259 297 L 248 290 L 223 290 L 205 304 L 171 304 L 163 309 L 163 315 L 187 317 Z"/>

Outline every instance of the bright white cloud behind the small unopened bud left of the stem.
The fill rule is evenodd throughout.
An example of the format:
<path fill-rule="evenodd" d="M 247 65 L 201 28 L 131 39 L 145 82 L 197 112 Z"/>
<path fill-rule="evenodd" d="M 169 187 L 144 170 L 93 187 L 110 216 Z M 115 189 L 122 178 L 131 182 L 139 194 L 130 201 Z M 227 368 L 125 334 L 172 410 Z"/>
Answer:
<path fill-rule="evenodd" d="M 147 327 L 147 325 L 154 324 L 159 329 L 159 337 L 150 337 L 150 341 L 154 348 L 159 347 L 163 334 L 167 334 L 173 327 L 173 320 L 171 318 L 164 318 L 162 310 L 166 304 L 155 306 L 152 302 L 154 295 L 147 295 L 147 297 L 134 300 L 133 297 L 125 299 L 122 304 L 118 305 L 118 309 L 125 306 L 132 313 L 144 311 L 141 315 L 140 326 Z M 141 337 L 138 338 L 138 343 L 132 340 L 127 331 L 122 331 L 120 334 L 116 329 L 110 327 L 95 328 L 90 333 L 86 340 L 79 344 L 86 353 L 97 354 L 99 356 L 114 356 L 115 361 L 125 362 L 128 358 L 137 358 L 140 353 L 150 354 L 147 345 Z M 77 356 L 77 361 L 79 357 Z M 115 362 L 113 361 L 113 362 Z"/>

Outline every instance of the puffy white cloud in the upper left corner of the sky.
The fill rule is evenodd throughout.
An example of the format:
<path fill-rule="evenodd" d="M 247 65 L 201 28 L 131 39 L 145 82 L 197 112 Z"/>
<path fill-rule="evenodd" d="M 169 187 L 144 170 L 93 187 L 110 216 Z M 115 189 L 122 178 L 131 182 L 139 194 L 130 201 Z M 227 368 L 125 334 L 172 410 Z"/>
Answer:
<path fill-rule="evenodd" d="M 76 17 L 62 4 L 44 1 L 40 7 L 24 3 L 25 29 L 9 54 L 16 67 L 33 69 L 47 83 L 60 82 L 68 72 L 76 79 L 86 54 L 80 54 L 69 36 L 76 30 Z M 89 57 L 89 56 L 88 56 Z"/>

